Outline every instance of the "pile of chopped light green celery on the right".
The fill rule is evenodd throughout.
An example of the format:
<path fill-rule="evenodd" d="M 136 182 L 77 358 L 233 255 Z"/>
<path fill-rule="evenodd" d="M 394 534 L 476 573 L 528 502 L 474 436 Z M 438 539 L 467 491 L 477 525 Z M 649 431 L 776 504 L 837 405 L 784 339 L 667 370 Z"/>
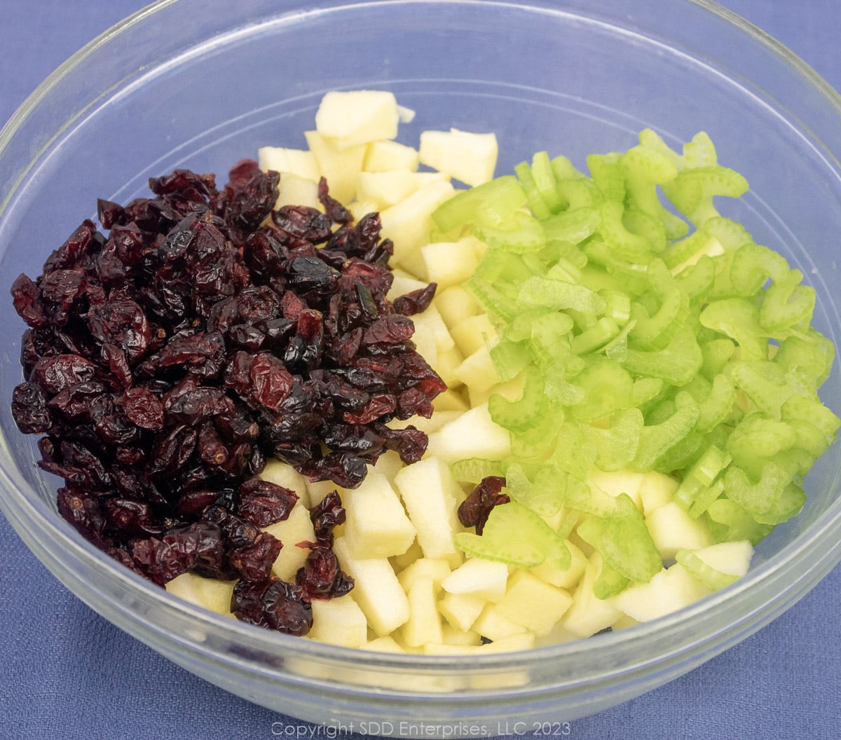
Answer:
<path fill-rule="evenodd" d="M 526 568 L 563 563 L 577 526 L 603 560 L 594 591 L 607 598 L 662 561 L 632 501 L 588 486 L 593 466 L 668 474 L 717 541 L 755 544 L 801 510 L 803 478 L 841 420 L 817 394 L 834 349 L 811 325 L 815 292 L 718 213 L 714 198 L 748 183 L 706 134 L 678 153 L 647 129 L 587 167 L 539 152 L 433 219 L 442 241 L 470 233 L 488 246 L 466 288 L 495 324 L 500 380 L 521 383 L 519 397 L 489 399 L 510 456 L 452 467 L 463 482 L 504 475 L 517 508 L 497 506 L 486 535 L 457 544 Z M 715 580 L 690 553 L 678 559 Z"/>

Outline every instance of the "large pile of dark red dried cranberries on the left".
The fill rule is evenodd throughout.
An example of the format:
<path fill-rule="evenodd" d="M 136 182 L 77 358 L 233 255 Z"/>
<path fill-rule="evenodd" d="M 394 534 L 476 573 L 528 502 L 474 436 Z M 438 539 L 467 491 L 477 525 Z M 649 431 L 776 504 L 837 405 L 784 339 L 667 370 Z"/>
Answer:
<path fill-rule="evenodd" d="M 386 299 L 378 214 L 355 223 L 324 180 L 323 212 L 274 209 L 278 179 L 244 160 L 221 190 L 177 170 L 154 198 L 100 200 L 107 236 L 86 220 L 13 283 L 29 328 L 12 410 L 87 539 L 157 584 L 237 579 L 237 616 L 303 634 L 310 600 L 353 585 L 331 549 L 341 500 L 311 511 L 317 542 L 286 583 L 272 563 L 297 543 L 260 528 L 297 496 L 254 477 L 278 457 L 354 488 L 386 450 L 415 462 L 426 435 L 386 423 L 429 416 L 445 385 L 407 318 L 435 286 Z"/>

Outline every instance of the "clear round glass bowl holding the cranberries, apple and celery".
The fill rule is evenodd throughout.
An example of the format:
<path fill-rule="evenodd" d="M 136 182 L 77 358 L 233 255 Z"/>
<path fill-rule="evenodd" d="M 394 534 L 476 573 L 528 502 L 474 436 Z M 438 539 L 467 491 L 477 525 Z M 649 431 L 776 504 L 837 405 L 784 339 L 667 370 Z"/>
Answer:
<path fill-rule="evenodd" d="M 128 201 L 179 166 L 224 173 L 261 145 L 304 147 L 321 96 L 350 88 L 389 89 L 415 109 L 405 143 L 423 129 L 495 131 L 498 172 L 542 149 L 583 166 L 648 126 L 673 145 L 706 130 L 751 183 L 722 210 L 801 269 L 817 291 L 815 325 L 838 344 L 841 98 L 704 0 L 251 0 L 212 13 L 202 0 L 154 3 L 61 66 L 0 133 L 6 294 L 93 217 L 96 198 Z M 5 399 L 21 378 L 23 328 L 3 301 Z M 841 410 L 838 362 L 822 395 Z M 439 736 L 495 735 L 615 706 L 748 637 L 841 560 L 833 447 L 807 478 L 801 515 L 760 544 L 748 575 L 683 611 L 523 653 L 365 653 L 232 622 L 131 574 L 56 513 L 56 478 L 35 467 L 36 441 L 8 403 L 0 429 L 3 513 L 79 598 L 236 695 L 364 734 L 423 737 L 426 723 Z"/>

